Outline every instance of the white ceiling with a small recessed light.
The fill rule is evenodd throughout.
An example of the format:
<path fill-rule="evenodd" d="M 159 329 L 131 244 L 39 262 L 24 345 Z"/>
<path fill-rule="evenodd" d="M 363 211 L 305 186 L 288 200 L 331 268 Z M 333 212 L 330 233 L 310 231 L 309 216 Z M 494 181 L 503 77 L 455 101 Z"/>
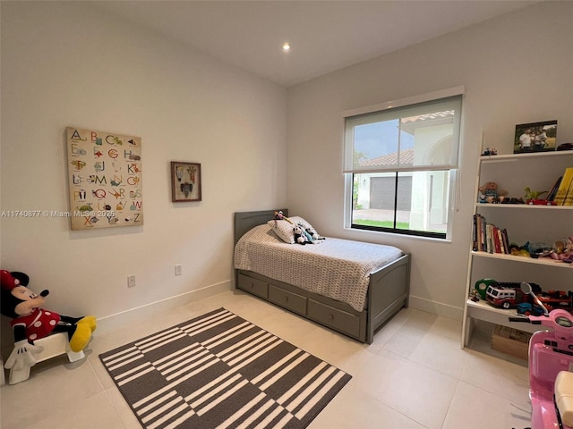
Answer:
<path fill-rule="evenodd" d="M 292 86 L 537 0 L 97 1 L 100 10 Z M 281 46 L 291 44 L 290 52 Z"/>

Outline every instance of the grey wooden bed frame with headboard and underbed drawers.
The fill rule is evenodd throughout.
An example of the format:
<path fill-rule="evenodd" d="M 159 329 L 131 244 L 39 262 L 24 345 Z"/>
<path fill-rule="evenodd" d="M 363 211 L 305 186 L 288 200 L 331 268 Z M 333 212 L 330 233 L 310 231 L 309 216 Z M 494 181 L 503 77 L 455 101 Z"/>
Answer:
<path fill-rule="evenodd" d="M 282 212 L 288 216 L 287 209 Z M 235 213 L 235 244 L 246 231 L 267 223 L 274 214 L 275 210 Z M 235 286 L 357 341 L 372 344 L 374 332 L 402 307 L 408 307 L 410 255 L 371 274 L 363 311 L 252 271 L 235 270 Z"/>

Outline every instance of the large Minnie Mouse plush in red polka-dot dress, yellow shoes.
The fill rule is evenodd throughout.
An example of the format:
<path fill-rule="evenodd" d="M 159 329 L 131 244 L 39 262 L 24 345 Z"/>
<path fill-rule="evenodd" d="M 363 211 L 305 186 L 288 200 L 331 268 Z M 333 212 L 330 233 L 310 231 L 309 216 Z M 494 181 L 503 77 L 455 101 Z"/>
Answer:
<path fill-rule="evenodd" d="M 71 317 L 42 308 L 49 290 L 42 290 L 37 295 L 28 289 L 26 286 L 30 277 L 25 273 L 1 270 L 0 281 L 0 313 L 13 319 L 11 324 L 14 331 L 14 349 L 6 360 L 6 368 L 18 364 L 19 359 L 33 366 L 36 360 L 31 354 L 42 351 L 42 348 L 34 345 L 34 341 L 52 332 L 67 332 L 73 351 L 81 351 L 88 345 L 91 333 L 97 326 L 93 315 Z"/>

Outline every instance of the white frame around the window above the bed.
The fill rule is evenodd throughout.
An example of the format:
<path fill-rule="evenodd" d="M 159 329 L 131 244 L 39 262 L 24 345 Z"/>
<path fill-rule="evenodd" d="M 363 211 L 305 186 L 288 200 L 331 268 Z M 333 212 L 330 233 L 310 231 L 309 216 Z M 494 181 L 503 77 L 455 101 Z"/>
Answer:
<path fill-rule="evenodd" d="M 345 191 L 344 191 L 344 227 L 346 229 L 351 229 L 352 228 L 352 210 L 353 210 L 353 173 L 360 173 L 360 172 L 368 172 L 368 171 L 363 171 L 361 169 L 353 169 L 353 167 L 351 166 L 351 162 L 350 160 L 353 159 L 353 151 L 354 151 L 354 147 L 352 144 L 348 144 L 347 139 L 346 139 L 346 118 L 352 118 L 355 116 L 359 116 L 359 115 L 367 115 L 367 114 L 384 114 L 384 111 L 389 111 L 390 109 L 395 109 L 395 108 L 399 108 L 399 107 L 406 107 L 409 105 L 419 105 L 419 104 L 423 104 L 423 103 L 427 103 L 427 102 L 432 102 L 432 101 L 439 101 L 440 99 L 444 99 L 444 98 L 449 98 L 449 97 L 456 97 L 456 96 L 461 96 L 462 98 L 462 104 L 463 104 L 463 97 L 465 94 L 465 88 L 464 87 L 455 87 L 455 88 L 448 88 L 448 89 L 443 89 L 440 91 L 434 91 L 432 93 L 428 93 L 428 94 L 423 94 L 420 96 L 415 96 L 415 97 L 406 97 L 406 98 L 402 98 L 399 100 L 394 100 L 394 101 L 389 101 L 389 102 L 384 102 L 378 105 L 370 105 L 370 106 L 365 106 L 365 107 L 360 107 L 357 109 L 353 109 L 353 110 L 347 110 L 345 112 L 343 112 L 342 117 L 344 120 L 344 133 L 345 133 L 345 138 L 343 141 L 343 172 L 345 175 Z M 463 109 L 462 109 L 463 110 Z M 454 221 L 454 213 L 456 211 L 456 205 L 457 205 L 457 194 L 458 194 L 458 178 L 459 178 L 459 172 L 458 172 L 458 160 L 459 160 L 459 151 L 460 151 L 460 147 L 461 147 L 461 129 L 462 129 L 462 123 L 463 123 L 463 118 L 462 118 L 463 112 L 460 113 L 459 116 L 459 122 L 458 125 L 455 127 L 454 133 L 454 139 L 456 140 L 456 142 L 452 145 L 452 156 L 450 158 L 450 163 L 448 165 L 435 165 L 432 167 L 429 166 L 424 166 L 422 168 L 417 168 L 414 167 L 414 169 L 418 169 L 419 171 L 430 171 L 430 170 L 443 170 L 443 169 L 448 169 L 449 170 L 449 213 L 448 213 L 448 226 L 447 226 L 447 231 L 446 231 L 446 238 L 445 239 L 438 239 L 438 240 L 447 240 L 447 241 L 451 241 L 453 236 L 452 236 L 452 232 L 453 232 L 453 221 Z M 378 172 L 400 172 L 400 171 L 412 171 L 413 167 L 409 166 L 406 168 L 400 168 L 400 166 L 395 166 L 392 168 L 389 168 L 387 170 L 385 169 L 379 169 Z M 357 229 L 353 229 L 353 231 L 359 231 Z M 360 230 L 360 231 L 364 231 L 364 230 Z M 378 232 L 378 231 L 377 231 Z M 384 231 L 384 233 L 395 233 L 395 232 L 387 232 Z M 410 235 L 410 234 L 403 234 L 405 237 L 418 237 L 417 235 Z M 424 236 L 422 236 L 423 238 L 425 238 Z M 432 239 L 434 240 L 434 239 Z"/>

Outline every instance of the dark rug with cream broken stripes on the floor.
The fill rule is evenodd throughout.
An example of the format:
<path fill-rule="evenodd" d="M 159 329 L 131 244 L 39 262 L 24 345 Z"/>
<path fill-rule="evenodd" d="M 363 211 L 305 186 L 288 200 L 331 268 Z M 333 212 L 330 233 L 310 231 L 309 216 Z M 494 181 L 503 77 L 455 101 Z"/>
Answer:
<path fill-rule="evenodd" d="M 351 379 L 225 308 L 99 358 L 149 429 L 304 428 Z"/>

